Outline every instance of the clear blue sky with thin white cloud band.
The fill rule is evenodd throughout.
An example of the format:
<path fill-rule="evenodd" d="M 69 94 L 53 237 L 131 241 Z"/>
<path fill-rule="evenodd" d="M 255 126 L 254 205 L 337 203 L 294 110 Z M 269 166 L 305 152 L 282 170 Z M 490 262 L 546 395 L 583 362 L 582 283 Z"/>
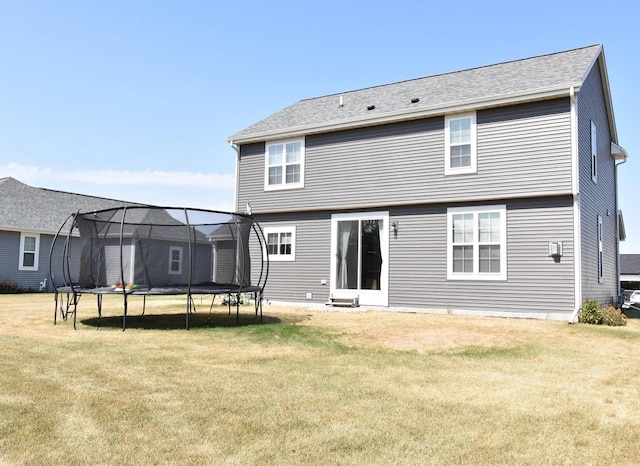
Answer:
<path fill-rule="evenodd" d="M 639 19 L 621 0 L 0 0 L 0 177 L 230 210 L 226 137 L 300 99 L 603 44 L 640 253 Z"/>

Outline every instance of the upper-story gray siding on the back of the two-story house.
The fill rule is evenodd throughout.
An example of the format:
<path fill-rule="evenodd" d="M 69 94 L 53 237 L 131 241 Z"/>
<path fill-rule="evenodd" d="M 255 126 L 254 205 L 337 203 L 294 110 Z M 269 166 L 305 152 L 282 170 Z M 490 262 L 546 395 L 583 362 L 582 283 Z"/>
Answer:
<path fill-rule="evenodd" d="M 264 190 L 264 143 L 241 146 L 238 208 L 254 213 L 468 202 L 571 191 L 568 99 L 477 113 L 478 172 L 444 175 L 444 117 L 305 138 L 304 187 Z M 526 170 L 523 167 L 526 166 Z"/>

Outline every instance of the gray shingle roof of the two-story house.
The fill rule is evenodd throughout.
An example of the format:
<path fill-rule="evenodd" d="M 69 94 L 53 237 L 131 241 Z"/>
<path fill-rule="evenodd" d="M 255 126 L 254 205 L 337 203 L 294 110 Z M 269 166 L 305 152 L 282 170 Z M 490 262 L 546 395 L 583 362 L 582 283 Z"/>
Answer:
<path fill-rule="evenodd" d="M 295 130 L 366 124 L 385 116 L 463 107 L 580 86 L 601 45 L 428 76 L 324 97 L 301 100 L 230 136 L 229 141 L 276 137 Z M 344 105 L 340 106 L 340 99 Z M 419 101 L 412 103 L 412 100 Z M 370 106 L 374 109 L 368 110 Z"/>

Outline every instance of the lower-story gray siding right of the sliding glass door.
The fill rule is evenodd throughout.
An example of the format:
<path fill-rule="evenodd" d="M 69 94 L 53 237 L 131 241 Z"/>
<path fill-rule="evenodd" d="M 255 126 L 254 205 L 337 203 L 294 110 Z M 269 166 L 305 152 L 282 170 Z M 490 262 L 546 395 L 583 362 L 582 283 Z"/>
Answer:
<path fill-rule="evenodd" d="M 389 305 L 568 317 L 574 301 L 571 198 L 506 205 L 506 281 L 447 279 L 446 206 L 393 211 L 399 233 L 390 240 Z M 557 262 L 548 257 L 550 241 L 563 242 Z"/>

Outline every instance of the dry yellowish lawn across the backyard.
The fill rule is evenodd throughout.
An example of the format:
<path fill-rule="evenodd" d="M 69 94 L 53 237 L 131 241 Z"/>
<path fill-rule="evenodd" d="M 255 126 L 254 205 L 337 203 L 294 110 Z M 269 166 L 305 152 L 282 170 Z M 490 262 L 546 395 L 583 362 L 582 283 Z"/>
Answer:
<path fill-rule="evenodd" d="M 0 295 L 0 464 L 637 464 L 640 320 Z M 198 303 L 199 304 L 199 303 Z M 202 308 L 202 310 L 201 310 Z M 137 316 L 137 317 L 136 317 Z"/>

